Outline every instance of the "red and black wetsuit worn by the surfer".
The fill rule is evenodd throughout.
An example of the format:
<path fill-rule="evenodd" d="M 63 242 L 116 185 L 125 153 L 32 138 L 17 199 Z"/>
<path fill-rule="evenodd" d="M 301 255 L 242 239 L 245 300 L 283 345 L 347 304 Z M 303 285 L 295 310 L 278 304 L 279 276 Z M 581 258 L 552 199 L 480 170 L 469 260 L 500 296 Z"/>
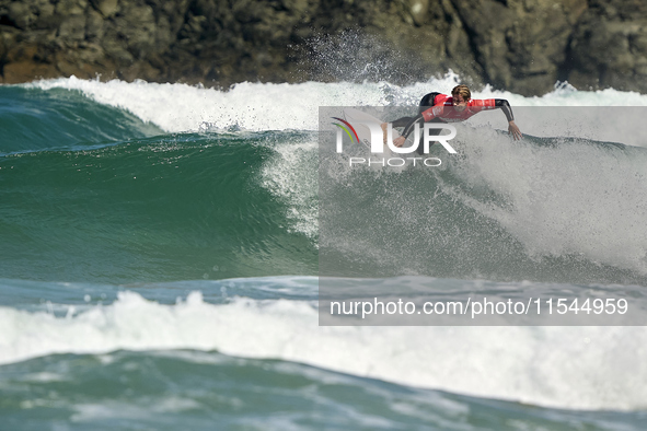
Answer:
<path fill-rule="evenodd" d="M 464 121 L 471 116 L 487 109 L 502 109 L 508 121 L 512 121 L 512 108 L 505 98 L 471 98 L 463 110 L 453 106 L 452 96 L 441 93 L 429 93 L 420 101 L 418 115 L 415 117 L 402 117 L 393 121 L 393 127 L 404 127 L 402 136 L 407 138 L 415 129 L 416 125 L 424 123 L 457 123 Z M 432 135 L 438 135 L 440 130 L 429 130 Z M 421 138 L 420 138 L 421 140 Z M 416 150 L 421 154 L 423 145 Z"/>

